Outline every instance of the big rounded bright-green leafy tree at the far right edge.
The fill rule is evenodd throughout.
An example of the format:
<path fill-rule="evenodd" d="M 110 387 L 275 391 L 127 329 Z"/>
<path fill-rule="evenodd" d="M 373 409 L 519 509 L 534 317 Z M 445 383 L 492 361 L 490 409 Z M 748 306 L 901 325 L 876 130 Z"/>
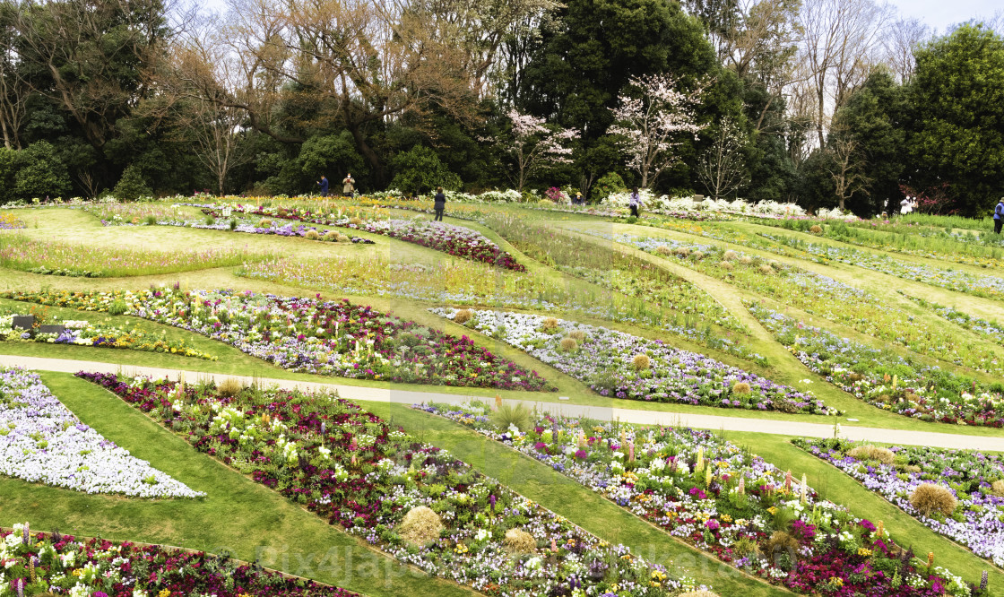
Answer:
<path fill-rule="evenodd" d="M 948 183 L 964 214 L 989 212 L 1004 171 L 1004 39 L 965 24 L 925 44 L 909 90 L 913 186 Z"/>

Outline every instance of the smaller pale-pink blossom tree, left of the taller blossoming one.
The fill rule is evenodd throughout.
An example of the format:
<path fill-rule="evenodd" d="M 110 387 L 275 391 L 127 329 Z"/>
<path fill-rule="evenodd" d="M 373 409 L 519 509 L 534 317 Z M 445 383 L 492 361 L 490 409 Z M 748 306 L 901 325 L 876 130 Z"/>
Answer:
<path fill-rule="evenodd" d="M 579 136 L 577 128 L 561 128 L 546 124 L 543 118 L 509 110 L 512 120 L 512 137 L 503 141 L 503 148 L 516 160 L 513 182 L 522 193 L 526 180 L 545 166 L 571 163 L 568 143 Z"/>

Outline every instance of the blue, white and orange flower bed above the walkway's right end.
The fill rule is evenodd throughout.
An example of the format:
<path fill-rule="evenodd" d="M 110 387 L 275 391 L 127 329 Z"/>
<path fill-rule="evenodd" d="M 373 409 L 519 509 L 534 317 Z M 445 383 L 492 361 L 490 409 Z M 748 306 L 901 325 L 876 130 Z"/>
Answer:
<path fill-rule="evenodd" d="M 806 367 L 880 408 L 948 423 L 1004 425 L 1004 385 L 984 384 L 878 350 L 747 302 L 750 313 Z"/>

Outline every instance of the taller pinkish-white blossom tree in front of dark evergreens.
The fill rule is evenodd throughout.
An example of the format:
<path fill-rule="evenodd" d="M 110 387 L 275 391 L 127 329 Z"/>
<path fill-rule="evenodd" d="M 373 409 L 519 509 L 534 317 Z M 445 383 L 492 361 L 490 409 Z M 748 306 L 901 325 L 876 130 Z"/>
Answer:
<path fill-rule="evenodd" d="M 629 83 L 640 93 L 619 96 L 611 110 L 614 123 L 607 132 L 620 137 L 628 167 L 641 175 L 642 187 L 649 188 L 679 160 L 673 151 L 680 144 L 679 137 L 693 134 L 697 138 L 702 126 L 696 121 L 694 106 L 705 85 L 682 91 L 670 74 L 632 77 Z"/>

